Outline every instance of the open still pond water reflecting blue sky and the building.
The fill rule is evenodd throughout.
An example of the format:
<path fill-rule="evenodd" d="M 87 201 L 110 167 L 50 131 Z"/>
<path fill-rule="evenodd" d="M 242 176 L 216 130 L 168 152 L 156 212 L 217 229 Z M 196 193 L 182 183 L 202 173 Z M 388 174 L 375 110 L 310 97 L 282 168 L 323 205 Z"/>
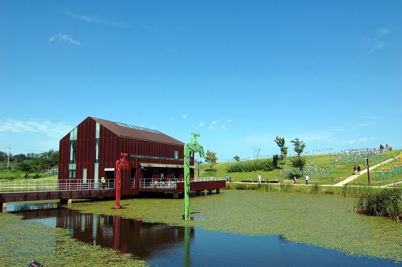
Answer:
<path fill-rule="evenodd" d="M 9 203 L 7 211 L 66 228 L 79 241 L 131 253 L 153 266 L 402 266 L 292 243 L 281 236 L 228 234 L 56 207 L 56 203 Z"/>

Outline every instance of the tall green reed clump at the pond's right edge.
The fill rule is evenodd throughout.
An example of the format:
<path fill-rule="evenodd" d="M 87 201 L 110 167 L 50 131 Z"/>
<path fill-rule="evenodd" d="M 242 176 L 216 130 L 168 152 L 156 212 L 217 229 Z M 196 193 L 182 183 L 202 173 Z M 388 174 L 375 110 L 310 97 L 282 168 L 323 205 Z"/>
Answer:
<path fill-rule="evenodd" d="M 402 188 L 366 192 L 355 201 L 353 211 L 361 214 L 385 216 L 402 222 Z"/>

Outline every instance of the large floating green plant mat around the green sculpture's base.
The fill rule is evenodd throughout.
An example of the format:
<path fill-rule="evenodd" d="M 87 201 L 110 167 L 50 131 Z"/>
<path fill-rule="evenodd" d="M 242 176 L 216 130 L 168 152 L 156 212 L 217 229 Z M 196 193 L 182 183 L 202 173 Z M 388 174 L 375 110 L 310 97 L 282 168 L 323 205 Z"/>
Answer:
<path fill-rule="evenodd" d="M 245 235 L 282 235 L 289 241 L 336 249 L 349 255 L 402 261 L 402 225 L 383 217 L 351 212 L 354 198 L 333 195 L 222 190 L 191 198 L 191 216 L 184 221 L 184 200 L 135 198 L 81 202 L 69 208 L 86 213 L 119 215 L 144 222 L 195 226 Z M 264 248 L 259 248 L 264 249 Z"/>

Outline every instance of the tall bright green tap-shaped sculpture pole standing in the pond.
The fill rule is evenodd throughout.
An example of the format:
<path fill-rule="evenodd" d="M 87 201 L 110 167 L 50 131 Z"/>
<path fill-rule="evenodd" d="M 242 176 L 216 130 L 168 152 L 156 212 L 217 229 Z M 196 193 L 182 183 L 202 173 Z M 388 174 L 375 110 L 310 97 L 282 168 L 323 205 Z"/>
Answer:
<path fill-rule="evenodd" d="M 197 141 L 197 136 L 200 134 L 192 132 L 191 135 L 194 135 L 194 142 L 191 138 L 191 142 L 184 145 L 184 219 L 186 221 L 190 220 L 190 157 L 197 152 L 200 153 L 200 157 L 204 157 L 204 147 Z"/>

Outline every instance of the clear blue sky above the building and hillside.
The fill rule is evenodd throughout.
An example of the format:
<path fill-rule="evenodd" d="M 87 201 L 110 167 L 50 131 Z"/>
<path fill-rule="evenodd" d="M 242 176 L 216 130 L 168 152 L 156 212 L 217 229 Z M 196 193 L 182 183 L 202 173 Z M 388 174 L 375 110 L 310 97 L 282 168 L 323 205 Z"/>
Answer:
<path fill-rule="evenodd" d="M 402 1 L 1 1 L 0 151 L 87 116 L 199 132 L 219 161 L 402 147 Z"/>

